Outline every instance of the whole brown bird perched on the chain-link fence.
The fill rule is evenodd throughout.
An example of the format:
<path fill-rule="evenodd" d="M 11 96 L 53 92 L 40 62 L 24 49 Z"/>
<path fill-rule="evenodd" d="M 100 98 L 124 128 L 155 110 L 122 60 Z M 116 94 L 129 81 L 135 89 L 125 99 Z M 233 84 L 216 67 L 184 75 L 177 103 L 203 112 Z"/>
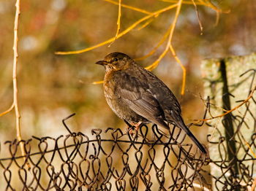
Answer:
<path fill-rule="evenodd" d="M 185 125 L 177 98 L 161 79 L 122 52 L 112 52 L 96 63 L 105 67 L 105 99 L 121 120 L 137 130 L 149 122 L 168 130 L 169 124 L 176 125 L 206 153 Z"/>

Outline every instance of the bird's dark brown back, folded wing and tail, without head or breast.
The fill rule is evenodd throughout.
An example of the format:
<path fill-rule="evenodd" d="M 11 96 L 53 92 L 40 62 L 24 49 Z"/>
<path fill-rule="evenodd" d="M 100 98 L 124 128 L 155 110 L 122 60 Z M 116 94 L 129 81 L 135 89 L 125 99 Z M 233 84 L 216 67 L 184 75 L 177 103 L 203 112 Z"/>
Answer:
<path fill-rule="evenodd" d="M 136 74 L 137 73 L 137 74 Z M 116 93 L 122 101 L 137 114 L 169 129 L 165 120 L 185 131 L 197 147 L 204 153 L 206 149 L 200 144 L 181 117 L 181 109 L 173 93 L 154 74 L 140 71 L 116 72 L 118 81 Z"/>

